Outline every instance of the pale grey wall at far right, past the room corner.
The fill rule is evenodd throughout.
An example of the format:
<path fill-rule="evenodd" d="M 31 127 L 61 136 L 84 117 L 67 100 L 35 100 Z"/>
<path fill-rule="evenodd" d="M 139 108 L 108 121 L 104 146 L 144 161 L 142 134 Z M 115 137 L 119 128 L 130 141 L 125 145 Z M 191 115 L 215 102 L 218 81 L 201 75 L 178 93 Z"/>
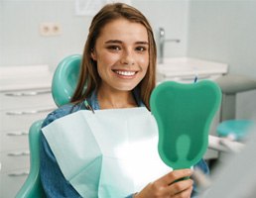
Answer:
<path fill-rule="evenodd" d="M 256 80 L 256 1 L 191 0 L 188 55 L 229 64 Z M 237 95 L 240 119 L 256 119 L 256 91 Z"/>

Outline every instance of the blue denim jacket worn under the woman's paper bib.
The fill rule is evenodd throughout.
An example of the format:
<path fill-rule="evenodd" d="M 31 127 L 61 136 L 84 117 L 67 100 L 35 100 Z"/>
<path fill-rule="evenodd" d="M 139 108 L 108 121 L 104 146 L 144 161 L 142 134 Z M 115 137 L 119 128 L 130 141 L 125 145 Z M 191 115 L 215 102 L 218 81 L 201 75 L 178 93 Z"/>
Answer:
<path fill-rule="evenodd" d="M 138 94 L 134 94 L 138 106 L 144 106 L 142 101 L 139 99 Z M 87 98 L 87 102 L 90 107 L 94 110 L 99 109 L 95 92 L 90 98 Z M 56 111 L 50 113 L 45 119 L 42 128 L 46 127 L 53 121 L 62 118 L 73 112 L 86 109 L 84 103 L 79 103 L 76 105 L 66 104 Z M 75 189 L 70 185 L 70 183 L 65 180 L 64 175 L 59 167 L 57 159 L 50 148 L 44 134 L 41 136 L 41 148 L 40 148 L 40 175 L 42 185 L 45 194 L 49 198 L 79 198 L 81 197 Z M 208 167 L 203 160 L 200 160 L 195 166 L 200 168 L 204 173 L 208 173 Z M 195 188 L 194 188 L 195 189 Z M 195 192 L 195 190 L 193 190 Z M 127 195 L 127 198 L 132 198 L 134 192 L 131 195 Z"/>

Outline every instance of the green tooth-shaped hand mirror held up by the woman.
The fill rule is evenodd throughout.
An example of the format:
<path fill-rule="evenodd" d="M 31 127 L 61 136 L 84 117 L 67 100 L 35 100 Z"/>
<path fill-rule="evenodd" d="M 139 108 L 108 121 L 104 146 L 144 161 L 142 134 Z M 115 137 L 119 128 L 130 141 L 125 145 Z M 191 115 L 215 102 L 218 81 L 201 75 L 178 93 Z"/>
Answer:
<path fill-rule="evenodd" d="M 209 80 L 166 81 L 153 90 L 150 106 L 159 129 L 158 150 L 167 165 L 190 168 L 202 158 L 220 101 L 220 88 Z"/>

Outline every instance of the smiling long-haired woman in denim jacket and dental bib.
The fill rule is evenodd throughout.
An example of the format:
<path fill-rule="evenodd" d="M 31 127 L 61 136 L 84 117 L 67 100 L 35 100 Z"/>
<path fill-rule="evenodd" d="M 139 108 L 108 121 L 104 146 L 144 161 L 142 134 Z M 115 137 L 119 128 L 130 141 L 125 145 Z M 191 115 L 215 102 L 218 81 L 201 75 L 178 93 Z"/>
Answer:
<path fill-rule="evenodd" d="M 78 183 L 71 183 L 68 180 L 69 178 L 64 176 L 66 174 L 64 174 L 65 171 L 62 169 L 63 163 L 58 160 L 58 157 L 60 156 L 58 155 L 58 151 L 64 153 L 64 157 L 68 158 L 68 160 L 64 160 L 64 164 L 74 163 L 73 161 L 75 157 L 79 160 L 81 157 L 88 157 L 91 159 L 97 157 L 97 153 L 95 153 L 94 149 L 87 150 L 87 152 L 85 154 L 83 153 L 82 156 L 81 154 L 79 155 L 80 152 L 77 151 L 76 154 L 73 150 L 75 150 L 77 147 L 81 147 L 82 149 L 89 148 L 89 146 L 93 145 L 93 141 L 88 141 L 90 140 L 89 137 L 85 136 L 85 138 L 81 138 L 82 136 L 79 136 L 78 140 L 85 140 L 88 142 L 86 144 L 64 144 L 64 147 L 56 149 L 55 146 L 57 143 L 53 143 L 50 139 L 48 139 L 52 135 L 61 134 L 61 143 L 63 143 L 64 140 L 68 141 L 69 139 L 72 139 L 72 137 L 75 136 L 74 134 L 77 133 L 77 126 L 79 126 L 79 124 L 74 126 L 71 125 L 70 131 L 66 133 L 66 139 L 64 139 L 64 131 L 66 129 L 64 127 L 58 128 L 54 132 L 47 132 L 47 129 L 49 127 L 51 128 L 51 126 L 56 123 L 55 122 L 52 124 L 52 122 L 56 121 L 57 119 L 61 118 L 62 120 L 60 120 L 62 122 L 62 117 L 66 116 L 65 118 L 67 118 L 68 121 L 68 119 L 73 118 L 73 115 L 77 115 L 69 114 L 79 110 L 108 109 L 109 111 L 113 111 L 114 116 L 110 116 L 111 120 L 107 120 L 105 123 L 103 123 L 103 131 L 93 131 L 90 130 L 90 128 L 86 129 L 86 127 L 82 127 L 79 128 L 81 129 L 81 135 L 84 135 L 85 132 L 92 133 L 91 137 L 94 137 L 93 140 L 95 141 L 95 134 L 100 134 L 97 137 L 104 137 L 104 143 L 111 143 L 107 147 L 109 151 L 114 147 L 114 142 L 123 140 L 120 137 L 129 132 L 129 134 L 125 135 L 126 138 L 129 137 L 129 144 L 126 144 L 125 146 L 128 147 L 128 150 L 134 150 L 130 148 L 134 148 L 134 143 L 138 142 L 139 137 L 142 136 L 141 139 L 145 139 L 147 136 L 149 136 L 149 132 L 153 129 L 150 127 L 150 125 L 145 124 L 144 121 L 146 117 L 144 114 L 142 117 L 140 117 L 136 112 L 142 109 L 149 118 L 151 117 L 151 113 L 149 112 L 149 101 L 151 93 L 156 84 L 156 53 L 156 44 L 153 37 L 152 28 L 144 15 L 137 9 L 126 4 L 115 3 L 104 6 L 98 12 L 98 14 L 95 15 L 89 28 L 89 33 L 82 55 L 78 83 L 71 99 L 71 103 L 60 107 L 58 110 L 51 113 L 43 123 L 40 171 L 42 184 L 48 197 L 191 197 L 192 179 L 175 182 L 181 178 L 190 177 L 192 175 L 191 169 L 180 169 L 174 171 L 169 171 L 168 169 L 169 172 L 167 174 L 165 172 L 164 175 L 163 173 L 158 175 L 158 179 L 155 181 L 148 181 L 151 182 L 148 185 L 147 183 L 143 184 L 143 186 L 146 187 L 136 188 L 140 192 L 134 192 L 137 190 L 122 190 L 123 186 L 136 185 L 134 183 L 131 184 L 127 179 L 125 179 L 127 177 L 122 177 L 123 175 L 118 175 L 119 180 L 122 180 L 122 183 L 115 182 L 114 186 L 116 186 L 116 188 L 113 190 L 114 188 L 112 183 L 102 182 L 102 180 L 99 178 L 101 176 L 98 177 L 98 172 L 94 171 L 93 169 L 94 166 L 92 164 L 94 163 L 90 163 L 89 166 L 93 166 L 93 171 L 89 171 L 89 175 L 85 175 L 86 179 L 81 177 L 84 179 L 78 179 Z M 115 111 L 113 109 L 115 109 Z M 117 111 L 117 109 L 131 111 L 132 116 L 127 117 L 126 115 L 127 119 L 125 119 L 125 121 L 120 121 L 118 118 L 122 118 L 123 115 L 118 113 L 120 111 Z M 135 111 L 135 109 L 137 111 Z M 88 119 L 92 119 L 90 121 L 93 121 L 95 116 L 98 118 L 97 116 L 100 113 L 109 111 L 97 111 L 97 113 L 95 113 L 96 111 L 92 111 L 95 114 L 91 114 L 88 111 L 84 112 L 89 113 Z M 95 116 L 93 117 L 93 115 Z M 140 119 L 137 119 L 135 116 L 138 116 L 143 121 L 138 122 Z M 125 122 L 129 120 L 130 117 L 133 118 L 133 122 L 130 123 L 131 125 L 129 127 L 127 127 Z M 105 116 L 104 119 L 109 119 L 109 117 Z M 74 121 L 78 122 L 80 120 L 73 119 L 73 122 Z M 73 123 L 72 121 L 70 122 Z M 85 122 L 81 123 L 84 124 Z M 99 125 L 99 122 L 96 120 L 89 123 L 93 126 Z M 153 122 L 151 122 L 151 124 L 152 123 Z M 102 123 L 100 124 L 102 125 Z M 112 125 L 112 127 L 109 127 L 109 125 Z M 117 125 L 120 126 L 120 128 L 115 130 L 117 129 Z M 142 129 L 139 130 L 138 133 L 137 131 L 132 130 L 137 127 L 141 127 Z M 130 133 L 127 128 L 129 128 L 132 132 Z M 110 131 L 114 131 L 114 137 L 110 136 Z M 135 140 L 131 141 L 132 135 L 135 137 Z M 57 141 L 57 139 L 52 139 L 52 141 Z M 99 146 L 99 143 L 95 143 L 95 145 Z M 120 143 L 118 142 L 116 145 L 120 145 Z M 69 155 L 65 155 L 66 148 L 70 148 L 70 150 L 72 150 L 73 154 L 70 155 L 70 157 Z M 150 146 L 150 148 L 154 148 L 154 146 Z M 139 150 L 135 150 L 134 153 L 129 155 L 128 158 L 133 158 L 133 164 L 140 167 L 140 165 L 143 164 L 144 157 L 134 158 L 136 152 L 139 152 Z M 148 154 L 146 152 L 147 151 L 145 151 L 145 154 Z M 143 154 L 143 156 L 145 156 L 145 154 Z M 69 158 L 71 158 L 73 161 L 69 162 Z M 111 157 L 111 159 L 112 158 L 114 157 Z M 101 165 L 107 164 L 110 165 L 112 169 L 115 169 L 116 163 L 107 163 L 102 156 L 100 160 Z M 126 160 L 127 158 L 125 158 L 125 161 Z M 78 169 L 80 172 L 85 172 L 86 168 L 84 168 L 84 164 L 82 165 L 83 169 Z M 102 169 L 102 166 L 95 166 L 96 168 L 99 167 Z M 207 171 L 207 167 L 202 160 L 196 164 L 196 166 L 204 170 L 204 172 Z M 160 167 L 157 167 L 158 168 L 156 170 L 159 170 Z M 113 175 L 111 172 L 109 172 L 111 168 L 108 168 L 106 171 L 107 173 L 102 175 L 103 180 L 106 179 L 106 181 L 109 181 L 109 179 L 112 179 Z M 134 178 L 142 177 L 143 175 L 141 175 L 140 172 L 141 171 L 137 173 L 138 175 L 134 175 L 134 173 L 132 173 L 129 176 Z M 152 172 L 153 171 L 150 170 L 147 171 L 146 174 L 153 175 Z M 77 174 L 75 175 L 77 176 Z M 96 184 L 98 185 L 96 185 L 95 188 L 91 187 L 91 182 L 87 182 L 95 181 L 97 179 L 99 179 L 99 181 L 96 181 Z M 102 183 L 100 183 L 100 181 Z M 107 192 L 107 195 L 104 194 L 105 196 L 103 196 L 100 194 L 102 189 L 103 191 Z"/>

